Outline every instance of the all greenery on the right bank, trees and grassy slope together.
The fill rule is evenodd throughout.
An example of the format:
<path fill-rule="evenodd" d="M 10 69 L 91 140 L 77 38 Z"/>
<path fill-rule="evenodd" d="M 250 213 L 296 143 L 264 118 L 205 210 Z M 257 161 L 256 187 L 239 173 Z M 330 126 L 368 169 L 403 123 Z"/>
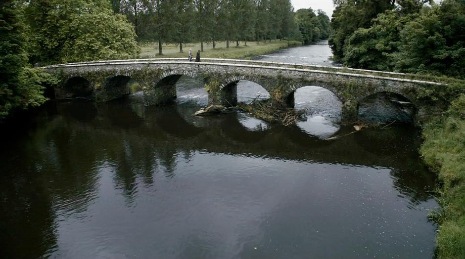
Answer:
<path fill-rule="evenodd" d="M 329 44 L 344 65 L 464 79 L 465 1 L 333 2 Z M 420 150 L 441 182 L 441 209 L 431 219 L 439 225 L 436 256 L 444 259 L 465 258 L 465 84 L 452 81 L 443 96 L 450 108 L 423 125 Z"/>

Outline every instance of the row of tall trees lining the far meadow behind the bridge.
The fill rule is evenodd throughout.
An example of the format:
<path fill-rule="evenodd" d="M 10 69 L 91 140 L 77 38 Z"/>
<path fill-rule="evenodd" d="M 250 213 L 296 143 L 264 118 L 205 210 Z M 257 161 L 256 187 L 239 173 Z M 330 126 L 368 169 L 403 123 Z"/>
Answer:
<path fill-rule="evenodd" d="M 275 39 L 312 43 L 327 39 L 329 18 L 319 10 L 300 9 L 290 0 L 111 0 L 116 13 L 134 25 L 138 41 L 215 43 Z"/>

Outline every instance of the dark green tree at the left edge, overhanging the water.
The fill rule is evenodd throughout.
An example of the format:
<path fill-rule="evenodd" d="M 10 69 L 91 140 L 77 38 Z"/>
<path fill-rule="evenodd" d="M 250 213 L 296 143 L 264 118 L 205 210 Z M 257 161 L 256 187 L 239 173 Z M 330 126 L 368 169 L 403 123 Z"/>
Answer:
<path fill-rule="evenodd" d="M 0 2 L 0 120 L 14 109 L 39 106 L 50 75 L 27 67 L 24 24 L 19 17 L 21 6 L 14 0 Z"/>

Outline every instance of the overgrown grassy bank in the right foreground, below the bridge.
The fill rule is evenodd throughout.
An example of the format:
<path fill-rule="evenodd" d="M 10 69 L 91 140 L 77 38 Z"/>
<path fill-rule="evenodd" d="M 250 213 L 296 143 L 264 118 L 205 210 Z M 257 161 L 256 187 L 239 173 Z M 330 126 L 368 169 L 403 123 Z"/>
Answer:
<path fill-rule="evenodd" d="M 437 256 L 465 258 L 465 94 L 442 118 L 424 126 L 421 154 L 438 173 L 441 210 L 431 213 L 439 225 Z"/>

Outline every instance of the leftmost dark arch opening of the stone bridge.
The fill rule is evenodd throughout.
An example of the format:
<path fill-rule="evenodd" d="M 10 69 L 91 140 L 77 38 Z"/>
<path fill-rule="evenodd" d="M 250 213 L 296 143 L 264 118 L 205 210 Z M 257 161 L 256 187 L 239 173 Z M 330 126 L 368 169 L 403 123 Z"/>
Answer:
<path fill-rule="evenodd" d="M 55 98 L 93 98 L 93 85 L 82 76 L 71 76 L 62 87 L 55 87 Z"/>

